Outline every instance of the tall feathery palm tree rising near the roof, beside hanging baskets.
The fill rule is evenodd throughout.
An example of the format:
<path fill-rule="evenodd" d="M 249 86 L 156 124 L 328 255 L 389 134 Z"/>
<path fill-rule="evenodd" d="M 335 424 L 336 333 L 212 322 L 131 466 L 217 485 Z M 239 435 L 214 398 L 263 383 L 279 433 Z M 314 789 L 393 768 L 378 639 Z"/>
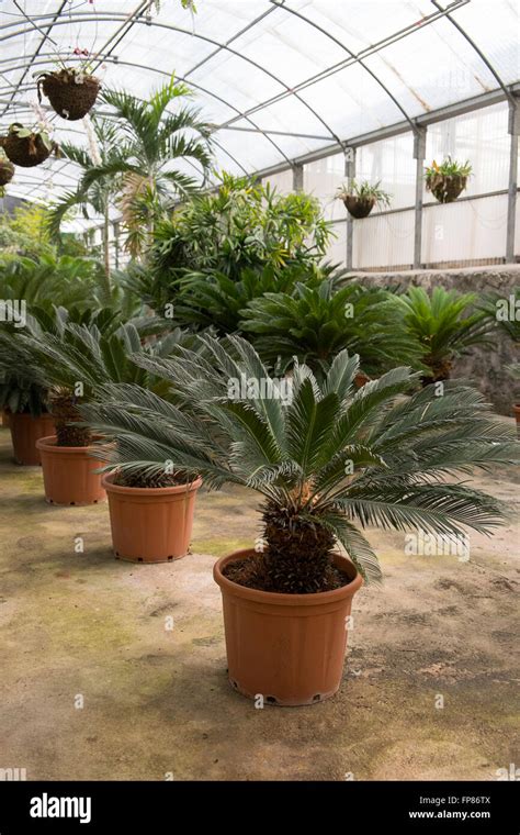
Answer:
<path fill-rule="evenodd" d="M 99 158 L 93 159 L 82 148 L 64 146 L 65 155 L 83 168 L 76 203 L 91 203 L 95 208 L 91 198 L 97 201 L 99 198 L 105 222 L 105 263 L 111 201 L 122 212 L 126 248 L 136 257 L 161 212 L 201 187 L 197 172 L 205 181 L 212 162 L 211 126 L 192 105 L 182 104 L 176 112 L 169 110 L 171 104 L 190 96 L 190 89 L 174 78 L 147 101 L 123 90 L 104 90 L 101 100 L 112 109 L 112 114 L 98 116 L 93 122 L 100 140 Z M 193 176 L 179 170 L 176 160 L 193 164 Z M 75 204 L 69 197 L 67 208 Z"/>

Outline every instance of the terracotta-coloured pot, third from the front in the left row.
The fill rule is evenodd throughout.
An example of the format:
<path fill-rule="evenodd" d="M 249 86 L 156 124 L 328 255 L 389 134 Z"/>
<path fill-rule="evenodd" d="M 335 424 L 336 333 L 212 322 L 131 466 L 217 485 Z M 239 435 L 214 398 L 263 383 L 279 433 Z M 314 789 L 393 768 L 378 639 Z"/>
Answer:
<path fill-rule="evenodd" d="M 49 504 L 95 504 L 106 498 L 101 475 L 103 461 L 92 458 L 90 446 L 56 446 L 56 435 L 36 443 L 42 456 L 45 499 Z"/>

